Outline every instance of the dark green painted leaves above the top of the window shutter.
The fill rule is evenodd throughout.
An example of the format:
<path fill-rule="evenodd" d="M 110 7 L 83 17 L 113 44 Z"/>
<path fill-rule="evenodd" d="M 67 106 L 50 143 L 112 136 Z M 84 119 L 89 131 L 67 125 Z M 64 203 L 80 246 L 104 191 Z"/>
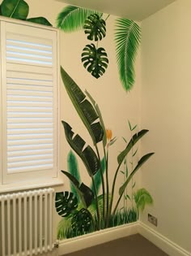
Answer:
<path fill-rule="evenodd" d="M 0 15 L 18 20 L 27 20 L 37 24 L 52 26 L 49 20 L 44 17 L 28 19 L 29 6 L 24 0 L 2 0 L 0 5 Z"/>

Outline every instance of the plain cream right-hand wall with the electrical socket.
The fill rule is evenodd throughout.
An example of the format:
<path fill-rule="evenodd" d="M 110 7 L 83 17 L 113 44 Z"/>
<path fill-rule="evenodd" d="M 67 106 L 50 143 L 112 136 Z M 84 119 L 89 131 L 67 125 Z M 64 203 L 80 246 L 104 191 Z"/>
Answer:
<path fill-rule="evenodd" d="M 157 232 L 191 251 L 191 1 L 180 0 L 142 22 L 142 150 L 155 156 L 143 167 L 142 186 Z"/>

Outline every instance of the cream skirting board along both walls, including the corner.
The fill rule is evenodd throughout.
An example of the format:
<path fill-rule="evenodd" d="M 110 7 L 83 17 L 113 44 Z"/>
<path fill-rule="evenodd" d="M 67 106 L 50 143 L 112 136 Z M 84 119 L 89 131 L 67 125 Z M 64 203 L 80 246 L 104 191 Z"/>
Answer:
<path fill-rule="evenodd" d="M 147 240 L 151 241 L 154 245 L 162 249 L 170 256 L 191 256 L 191 253 L 139 221 L 136 223 L 130 223 L 116 228 L 108 228 L 106 230 L 93 232 L 88 235 L 60 241 L 57 254 L 58 256 L 70 254 L 80 249 L 86 249 L 91 246 L 100 245 L 108 241 L 137 233 L 140 233 L 142 236 L 146 237 Z"/>

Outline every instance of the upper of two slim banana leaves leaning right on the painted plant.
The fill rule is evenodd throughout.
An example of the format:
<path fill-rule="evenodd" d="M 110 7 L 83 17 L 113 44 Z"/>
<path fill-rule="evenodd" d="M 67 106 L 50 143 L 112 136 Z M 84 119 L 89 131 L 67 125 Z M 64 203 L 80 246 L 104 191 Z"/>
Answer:
<path fill-rule="evenodd" d="M 135 133 L 134 136 L 129 141 L 128 145 L 126 146 L 125 150 L 121 152 L 121 154 L 117 157 L 118 164 L 121 164 L 125 156 L 129 153 L 129 151 L 132 149 L 132 147 L 147 133 L 149 130 L 143 129 L 142 131 Z"/>

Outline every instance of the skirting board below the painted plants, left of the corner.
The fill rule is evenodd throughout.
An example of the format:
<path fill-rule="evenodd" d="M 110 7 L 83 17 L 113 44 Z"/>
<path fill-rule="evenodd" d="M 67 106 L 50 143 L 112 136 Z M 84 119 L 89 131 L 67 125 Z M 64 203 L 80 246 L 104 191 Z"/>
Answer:
<path fill-rule="evenodd" d="M 130 223 L 115 228 L 108 228 L 88 235 L 70 238 L 59 242 L 58 255 L 70 254 L 74 251 L 100 245 L 121 237 L 138 233 L 138 223 Z"/>

